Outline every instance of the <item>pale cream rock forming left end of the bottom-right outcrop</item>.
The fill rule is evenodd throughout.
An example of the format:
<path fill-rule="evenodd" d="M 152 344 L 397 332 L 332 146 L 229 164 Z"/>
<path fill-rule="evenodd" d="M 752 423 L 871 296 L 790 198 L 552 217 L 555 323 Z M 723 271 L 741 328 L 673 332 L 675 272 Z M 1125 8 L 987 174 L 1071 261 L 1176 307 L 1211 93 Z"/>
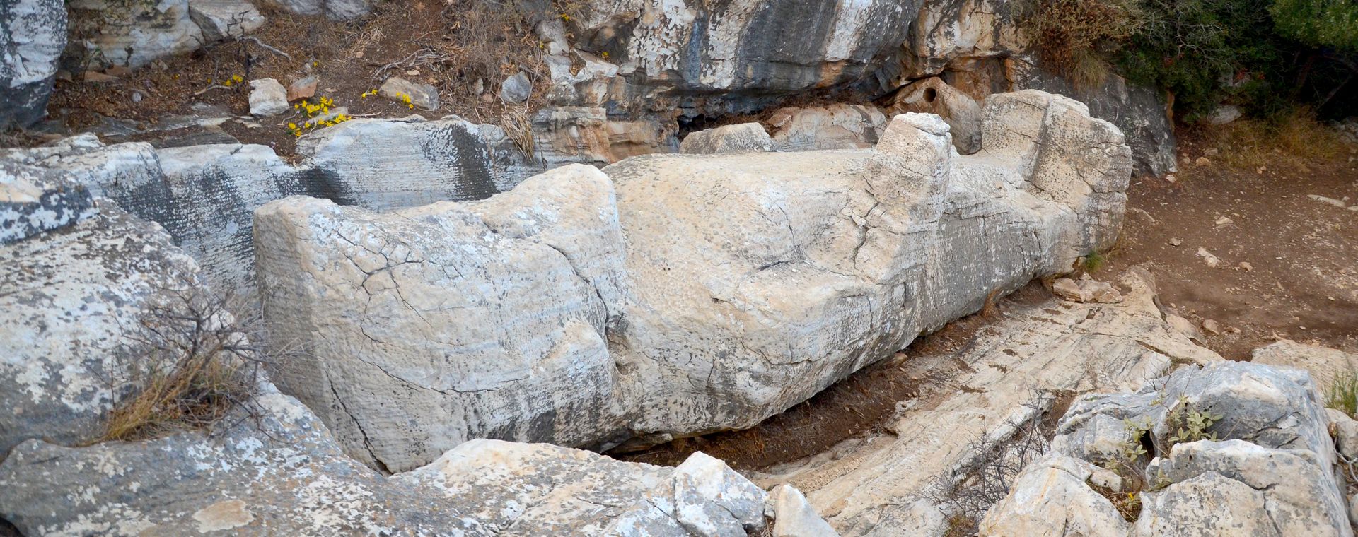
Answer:
<path fill-rule="evenodd" d="M 982 537 L 1124 537 L 1127 521 L 1086 484 L 1099 469 L 1061 454 L 1029 464 L 986 511 Z"/>

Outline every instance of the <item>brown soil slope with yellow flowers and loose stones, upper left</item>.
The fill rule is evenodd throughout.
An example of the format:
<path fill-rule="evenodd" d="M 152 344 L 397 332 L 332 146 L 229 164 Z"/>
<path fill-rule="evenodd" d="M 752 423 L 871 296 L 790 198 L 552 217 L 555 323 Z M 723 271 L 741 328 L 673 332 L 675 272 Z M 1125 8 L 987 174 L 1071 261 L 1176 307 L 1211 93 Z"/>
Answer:
<path fill-rule="evenodd" d="M 539 87 L 528 103 L 530 108 L 536 107 L 542 100 L 546 72 L 528 22 L 517 14 L 504 16 L 494 24 L 477 24 L 482 35 L 470 35 L 466 28 L 471 24 L 466 18 L 488 15 L 458 9 L 463 3 L 379 3 L 372 15 L 349 23 L 262 8 L 269 22 L 251 35 L 288 57 L 253 42 L 227 42 L 160 60 L 122 73 L 115 81 L 86 83 L 76 73 L 76 80 L 57 81 L 48 107 L 49 117 L 72 130 L 95 126 L 103 118 L 128 119 L 140 127 L 152 127 L 168 115 L 193 115 L 190 106 L 194 103 L 247 117 L 250 80 L 272 77 L 288 85 L 316 75 L 316 96 L 333 99 L 335 107 L 348 107 L 353 117 L 418 114 L 433 119 L 456 114 L 475 122 L 497 123 L 505 106 L 498 98 L 489 96 L 496 95 L 500 81 L 519 68 L 531 72 L 530 77 Z M 486 27 L 494 30 L 486 31 Z M 478 45 L 469 46 L 469 42 Z M 466 68 L 475 64 L 469 58 L 483 57 L 488 50 L 498 54 L 496 65 L 475 71 Z M 250 58 L 249 68 L 246 57 Z M 230 88 L 208 90 L 234 76 L 240 76 L 243 81 L 232 81 Z M 440 108 L 425 111 L 382 96 L 363 96 L 376 90 L 387 76 L 440 88 Z M 471 91 L 477 79 L 483 81 L 483 98 Z M 133 92 L 141 95 L 140 102 L 133 100 Z M 288 130 L 288 123 L 304 119 L 296 113 L 251 121 L 258 126 L 232 121 L 224 123 L 223 130 L 242 142 L 269 145 L 278 155 L 289 156 L 295 152 L 296 136 Z"/>

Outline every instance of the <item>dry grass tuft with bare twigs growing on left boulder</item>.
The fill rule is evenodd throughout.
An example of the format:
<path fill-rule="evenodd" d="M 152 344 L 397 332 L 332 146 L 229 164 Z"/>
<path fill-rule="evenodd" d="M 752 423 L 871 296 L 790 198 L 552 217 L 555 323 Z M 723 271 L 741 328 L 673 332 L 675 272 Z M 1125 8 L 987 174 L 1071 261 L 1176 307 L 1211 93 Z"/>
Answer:
<path fill-rule="evenodd" d="M 247 327 L 227 300 L 198 286 L 166 289 L 120 349 L 113 385 L 120 396 L 99 441 L 144 439 L 182 429 L 212 427 L 251 405 L 268 354 L 251 346 Z"/>

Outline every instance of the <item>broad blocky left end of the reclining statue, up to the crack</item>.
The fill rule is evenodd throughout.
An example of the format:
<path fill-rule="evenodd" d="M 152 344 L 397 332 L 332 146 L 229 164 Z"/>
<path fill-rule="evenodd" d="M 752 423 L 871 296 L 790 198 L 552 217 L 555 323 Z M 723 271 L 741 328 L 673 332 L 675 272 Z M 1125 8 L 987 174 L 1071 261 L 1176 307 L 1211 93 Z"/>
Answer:
<path fill-rule="evenodd" d="M 604 339 L 622 236 L 595 168 L 387 214 L 284 199 L 257 212 L 255 250 L 276 335 L 315 357 L 278 382 L 354 457 L 402 471 L 471 438 L 622 429 Z"/>

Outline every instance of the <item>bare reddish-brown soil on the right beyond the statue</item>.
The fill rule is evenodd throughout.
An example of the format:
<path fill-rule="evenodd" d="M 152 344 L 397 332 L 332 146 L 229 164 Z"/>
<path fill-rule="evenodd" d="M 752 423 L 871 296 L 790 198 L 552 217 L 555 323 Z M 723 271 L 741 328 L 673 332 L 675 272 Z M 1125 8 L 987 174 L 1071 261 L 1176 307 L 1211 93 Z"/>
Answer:
<path fill-rule="evenodd" d="M 1180 152 L 1194 161 L 1214 145 L 1186 138 Z M 1221 159 L 1209 160 L 1232 151 L 1217 149 Z M 1222 334 L 1205 332 L 1205 344 L 1228 359 L 1249 359 L 1279 338 L 1358 351 L 1358 210 L 1308 198 L 1358 205 L 1358 161 L 1350 161 L 1358 146 L 1347 149 L 1263 172 L 1180 163 L 1175 183 L 1134 179 L 1122 243 L 1101 273 L 1145 264 L 1162 305 L 1199 327 L 1221 325 Z M 1217 225 L 1222 217 L 1230 222 Z M 1199 247 L 1221 264 L 1209 267 Z"/>

